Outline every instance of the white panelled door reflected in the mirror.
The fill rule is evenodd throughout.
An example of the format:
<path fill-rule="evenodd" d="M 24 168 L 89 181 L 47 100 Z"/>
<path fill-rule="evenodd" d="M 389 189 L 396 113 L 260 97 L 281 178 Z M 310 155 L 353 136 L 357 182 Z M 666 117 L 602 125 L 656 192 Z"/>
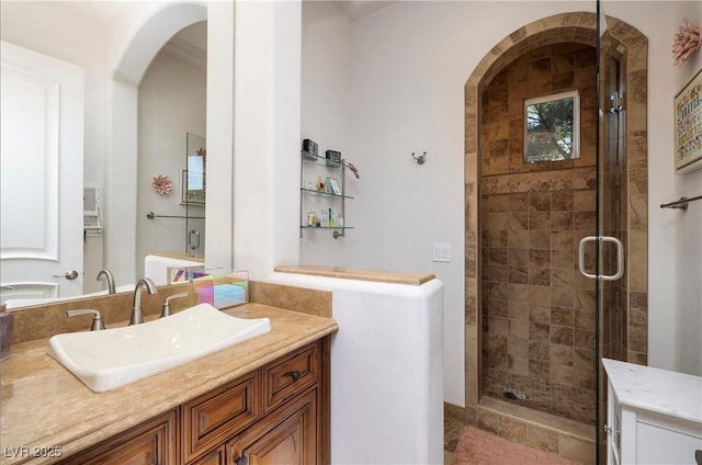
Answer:
<path fill-rule="evenodd" d="M 83 70 L 2 42 L 0 281 L 8 298 L 83 282 Z"/>

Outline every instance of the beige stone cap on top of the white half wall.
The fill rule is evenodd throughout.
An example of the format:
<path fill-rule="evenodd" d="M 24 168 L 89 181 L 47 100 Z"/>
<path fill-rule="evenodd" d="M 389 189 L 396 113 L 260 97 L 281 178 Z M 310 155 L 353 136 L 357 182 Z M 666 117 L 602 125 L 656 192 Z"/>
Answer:
<path fill-rule="evenodd" d="M 375 281 L 378 283 L 421 285 L 435 276 L 432 273 L 410 273 L 405 271 L 358 270 L 343 266 L 282 265 L 275 266 L 281 273 L 312 274 L 314 276 L 341 277 L 346 280 Z"/>

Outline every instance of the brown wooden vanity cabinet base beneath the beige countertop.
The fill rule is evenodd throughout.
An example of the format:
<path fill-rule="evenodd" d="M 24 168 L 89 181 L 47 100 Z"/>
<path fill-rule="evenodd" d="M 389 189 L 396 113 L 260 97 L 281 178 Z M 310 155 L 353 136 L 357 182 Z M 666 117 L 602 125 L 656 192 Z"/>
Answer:
<path fill-rule="evenodd" d="M 329 338 L 61 464 L 328 464 Z"/>

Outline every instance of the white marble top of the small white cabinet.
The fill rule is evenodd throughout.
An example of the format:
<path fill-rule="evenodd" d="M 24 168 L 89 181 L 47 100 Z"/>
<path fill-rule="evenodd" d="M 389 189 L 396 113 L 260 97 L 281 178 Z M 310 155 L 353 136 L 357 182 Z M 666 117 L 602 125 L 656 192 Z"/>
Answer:
<path fill-rule="evenodd" d="M 602 365 L 622 405 L 702 428 L 702 377 L 610 359 Z"/>

